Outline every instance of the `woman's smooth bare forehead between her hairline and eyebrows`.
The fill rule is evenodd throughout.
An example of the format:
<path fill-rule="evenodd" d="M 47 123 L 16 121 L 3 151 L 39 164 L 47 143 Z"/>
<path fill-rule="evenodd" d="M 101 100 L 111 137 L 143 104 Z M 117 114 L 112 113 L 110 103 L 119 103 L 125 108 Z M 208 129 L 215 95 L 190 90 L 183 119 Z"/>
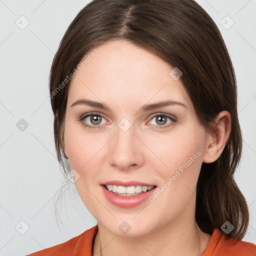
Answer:
<path fill-rule="evenodd" d="M 154 53 L 131 42 L 107 41 L 82 57 L 69 85 L 68 102 L 86 97 L 127 106 L 172 99 L 186 102 L 190 108 L 181 80 L 169 74 L 172 69 Z"/>

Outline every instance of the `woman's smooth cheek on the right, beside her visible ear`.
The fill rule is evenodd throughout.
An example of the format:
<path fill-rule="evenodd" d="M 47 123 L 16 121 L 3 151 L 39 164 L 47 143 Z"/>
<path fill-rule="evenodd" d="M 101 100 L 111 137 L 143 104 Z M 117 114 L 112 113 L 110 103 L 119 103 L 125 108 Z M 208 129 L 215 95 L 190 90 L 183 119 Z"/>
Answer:
<path fill-rule="evenodd" d="M 169 194 L 171 197 L 175 195 L 175 199 L 179 198 L 180 201 L 177 201 L 177 204 L 183 199 L 186 201 L 189 190 L 194 191 L 196 188 L 202 162 L 203 141 L 200 134 L 201 131 L 196 126 L 173 132 L 161 140 L 162 146 L 157 151 L 164 163 L 157 172 L 162 178 L 162 184 L 168 187 L 167 189 L 163 187 L 162 190 L 167 191 L 166 196 Z M 165 199 L 167 197 L 163 196 L 162 200 Z M 172 200 L 175 199 L 172 198 Z"/>

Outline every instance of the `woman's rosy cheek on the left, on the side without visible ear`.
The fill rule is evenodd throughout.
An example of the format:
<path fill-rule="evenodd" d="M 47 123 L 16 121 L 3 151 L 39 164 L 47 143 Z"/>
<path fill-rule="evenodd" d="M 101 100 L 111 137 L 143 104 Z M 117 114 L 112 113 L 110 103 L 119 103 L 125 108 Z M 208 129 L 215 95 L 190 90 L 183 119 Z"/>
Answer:
<path fill-rule="evenodd" d="M 91 135 L 90 135 L 91 134 Z M 74 182 L 75 188 L 83 201 L 85 207 L 94 212 L 98 201 L 91 194 L 98 189 L 98 176 L 100 159 L 101 139 L 93 134 L 86 132 L 81 124 L 74 124 L 68 119 L 65 123 L 65 147 L 68 155 L 70 168 L 78 172 L 79 178 Z M 100 142 L 101 141 L 101 142 Z"/>

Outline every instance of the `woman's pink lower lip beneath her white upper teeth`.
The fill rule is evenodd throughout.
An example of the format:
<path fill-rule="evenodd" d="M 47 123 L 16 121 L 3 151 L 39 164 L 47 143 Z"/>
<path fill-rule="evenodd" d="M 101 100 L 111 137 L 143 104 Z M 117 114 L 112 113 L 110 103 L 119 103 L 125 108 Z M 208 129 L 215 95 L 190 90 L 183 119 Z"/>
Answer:
<path fill-rule="evenodd" d="M 147 192 L 142 192 L 142 193 L 131 195 L 131 196 L 122 196 L 122 195 L 114 194 L 113 192 L 105 188 L 105 186 L 103 185 L 101 186 L 106 199 L 112 204 L 118 207 L 123 207 L 123 208 L 131 208 L 143 203 L 146 199 L 148 199 L 150 195 L 152 195 L 155 192 L 155 189 L 156 189 L 156 187 L 154 187 Z"/>

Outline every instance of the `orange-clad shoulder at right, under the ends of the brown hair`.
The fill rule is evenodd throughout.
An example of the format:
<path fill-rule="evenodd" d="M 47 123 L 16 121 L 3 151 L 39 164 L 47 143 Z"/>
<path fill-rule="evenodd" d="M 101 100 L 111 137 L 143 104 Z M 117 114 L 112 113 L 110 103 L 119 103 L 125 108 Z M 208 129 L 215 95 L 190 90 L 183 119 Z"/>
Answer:
<path fill-rule="evenodd" d="M 217 228 L 213 230 L 211 239 L 202 256 L 255 256 L 256 245 L 250 242 L 229 238 Z"/>

